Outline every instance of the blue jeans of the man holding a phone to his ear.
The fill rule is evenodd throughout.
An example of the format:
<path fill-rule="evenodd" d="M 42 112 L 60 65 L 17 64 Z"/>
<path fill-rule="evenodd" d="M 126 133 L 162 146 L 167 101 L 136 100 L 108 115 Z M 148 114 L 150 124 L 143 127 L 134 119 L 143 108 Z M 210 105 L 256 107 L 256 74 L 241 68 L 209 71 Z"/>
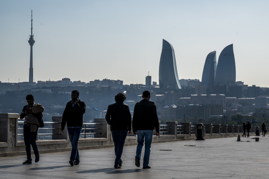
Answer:
<path fill-rule="evenodd" d="M 77 163 L 79 163 L 79 150 L 77 149 L 77 143 L 79 141 L 81 129 L 82 127 L 67 128 L 69 140 L 72 144 L 70 160 L 72 160 L 73 162 L 76 161 Z"/>

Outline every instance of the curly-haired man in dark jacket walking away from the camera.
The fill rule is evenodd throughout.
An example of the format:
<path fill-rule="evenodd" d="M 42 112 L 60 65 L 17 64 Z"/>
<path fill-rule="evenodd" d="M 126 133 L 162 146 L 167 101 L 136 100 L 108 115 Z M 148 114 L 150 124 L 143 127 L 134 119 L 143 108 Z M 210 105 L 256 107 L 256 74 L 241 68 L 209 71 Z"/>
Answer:
<path fill-rule="evenodd" d="M 122 166 L 121 155 L 127 133 L 131 133 L 132 116 L 129 106 L 124 104 L 126 96 L 123 93 L 118 93 L 115 96 L 116 103 L 110 104 L 107 108 L 105 120 L 110 125 L 110 130 L 115 146 L 115 163 L 114 168 L 120 169 Z M 129 132 L 128 132 L 129 131 Z"/>

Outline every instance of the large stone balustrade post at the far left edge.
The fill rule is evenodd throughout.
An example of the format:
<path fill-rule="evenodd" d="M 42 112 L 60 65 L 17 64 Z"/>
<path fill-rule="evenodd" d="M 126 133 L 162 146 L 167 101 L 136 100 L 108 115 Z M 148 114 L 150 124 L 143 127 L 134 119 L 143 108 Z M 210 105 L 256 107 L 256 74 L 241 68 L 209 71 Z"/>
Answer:
<path fill-rule="evenodd" d="M 16 146 L 19 114 L 0 113 L 0 153 Z M 8 147 L 2 151 L 2 147 Z"/>

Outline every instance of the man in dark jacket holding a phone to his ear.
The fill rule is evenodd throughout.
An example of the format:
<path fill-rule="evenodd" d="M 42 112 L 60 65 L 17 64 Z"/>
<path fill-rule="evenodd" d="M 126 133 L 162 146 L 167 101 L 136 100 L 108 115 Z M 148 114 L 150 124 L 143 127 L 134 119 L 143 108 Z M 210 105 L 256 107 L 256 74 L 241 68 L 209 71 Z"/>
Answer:
<path fill-rule="evenodd" d="M 83 114 L 86 110 L 86 105 L 83 101 L 79 100 L 79 92 L 73 90 L 71 93 L 71 101 L 66 104 L 65 110 L 62 116 L 62 132 L 65 132 L 65 124 L 67 123 L 67 131 L 69 140 L 72 144 L 72 151 L 70 156 L 70 165 L 79 164 L 79 151 L 77 143 L 79 141 L 79 135 L 82 129 Z"/>

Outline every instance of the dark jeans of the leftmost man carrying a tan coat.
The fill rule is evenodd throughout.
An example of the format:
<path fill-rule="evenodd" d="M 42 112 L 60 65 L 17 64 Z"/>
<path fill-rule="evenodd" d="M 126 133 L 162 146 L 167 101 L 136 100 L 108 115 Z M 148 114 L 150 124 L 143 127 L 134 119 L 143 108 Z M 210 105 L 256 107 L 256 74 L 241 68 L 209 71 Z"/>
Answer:
<path fill-rule="evenodd" d="M 26 155 L 27 155 L 27 160 L 32 161 L 31 158 L 31 145 L 34 150 L 34 155 L 39 155 L 37 144 L 36 144 L 36 138 L 37 138 L 37 131 L 30 132 L 30 125 L 24 124 L 23 125 L 23 138 L 24 138 L 24 144 L 25 144 L 25 149 L 26 149 Z"/>

